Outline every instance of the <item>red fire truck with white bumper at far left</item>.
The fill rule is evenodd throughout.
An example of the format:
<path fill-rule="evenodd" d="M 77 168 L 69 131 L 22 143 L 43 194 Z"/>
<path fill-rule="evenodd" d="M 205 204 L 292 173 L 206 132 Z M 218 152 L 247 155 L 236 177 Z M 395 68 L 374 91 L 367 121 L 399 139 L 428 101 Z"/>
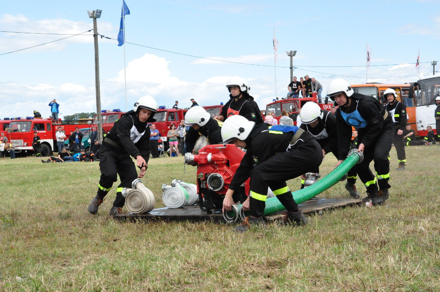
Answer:
<path fill-rule="evenodd" d="M 58 121 L 61 124 L 52 124 L 51 119 L 34 119 L 32 117 L 20 117 L 9 121 L 9 130 L 5 134 L 8 140 L 15 145 L 16 153 L 33 152 L 32 140 L 34 132 L 38 133 L 41 139 L 40 153 L 42 156 L 49 156 L 52 152 L 58 151 L 56 132 L 61 127 L 66 137 L 70 136 L 70 131 L 75 127 L 84 127 L 84 124 L 77 124 L 74 121 Z"/>

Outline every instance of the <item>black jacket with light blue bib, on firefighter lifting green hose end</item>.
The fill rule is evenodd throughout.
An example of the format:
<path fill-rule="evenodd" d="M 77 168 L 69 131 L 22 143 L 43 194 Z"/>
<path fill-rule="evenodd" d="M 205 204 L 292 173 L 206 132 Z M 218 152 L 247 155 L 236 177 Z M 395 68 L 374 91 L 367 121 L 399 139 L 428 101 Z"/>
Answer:
<path fill-rule="evenodd" d="M 347 157 L 350 150 L 350 142 L 352 140 L 352 126 L 348 125 L 342 118 L 341 111 L 345 113 L 351 113 L 356 109 L 356 101 L 359 101 L 357 110 L 361 117 L 367 121 L 367 125 L 364 128 L 356 128 L 357 145 L 361 143 L 365 147 L 371 146 L 375 143 L 377 136 L 384 129 L 394 128 L 391 114 L 388 114 L 386 120 L 383 120 L 385 109 L 377 100 L 371 96 L 365 96 L 360 93 L 353 93 L 350 97 L 352 103 L 350 108 L 345 106 L 338 106 L 336 110 L 336 124 L 337 124 L 337 139 L 338 139 L 338 159 L 344 160 Z"/>

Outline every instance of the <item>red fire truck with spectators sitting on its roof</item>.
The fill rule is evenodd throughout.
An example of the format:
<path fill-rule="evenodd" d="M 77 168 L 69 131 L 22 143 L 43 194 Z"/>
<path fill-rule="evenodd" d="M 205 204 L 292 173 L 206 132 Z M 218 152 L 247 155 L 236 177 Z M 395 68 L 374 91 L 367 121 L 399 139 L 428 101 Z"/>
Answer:
<path fill-rule="evenodd" d="M 313 93 L 313 96 L 310 98 L 282 98 L 281 100 L 273 100 L 273 103 L 266 105 L 266 110 L 263 112 L 263 115 L 270 112 L 275 113 L 275 118 L 280 122 L 281 112 L 286 111 L 289 114 L 289 117 L 293 120 L 296 125 L 296 118 L 298 116 L 298 108 L 303 107 L 303 105 L 307 102 L 313 102 L 318 104 L 322 109 L 330 110 L 333 104 L 320 104 L 318 102 L 318 98 L 316 93 Z"/>

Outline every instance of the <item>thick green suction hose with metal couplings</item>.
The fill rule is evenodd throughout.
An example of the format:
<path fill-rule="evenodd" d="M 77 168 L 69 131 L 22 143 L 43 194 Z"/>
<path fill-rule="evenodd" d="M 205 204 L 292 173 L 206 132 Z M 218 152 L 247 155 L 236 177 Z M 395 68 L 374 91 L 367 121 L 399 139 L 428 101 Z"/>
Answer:
<path fill-rule="evenodd" d="M 303 188 L 292 192 L 293 199 L 297 204 L 304 203 L 311 198 L 317 196 L 326 189 L 337 184 L 340 179 L 350 170 L 356 163 L 362 162 L 364 159 L 362 152 L 357 152 L 357 149 L 349 151 L 349 155 L 338 167 L 333 169 L 328 175 L 323 177 L 319 182 L 311 185 L 308 188 Z M 265 202 L 264 216 L 270 215 L 284 210 L 283 204 L 275 198 L 267 199 Z M 236 222 L 239 217 L 243 220 L 246 217 L 245 212 L 242 210 L 242 205 L 233 205 L 230 211 L 223 212 L 223 218 L 228 223 Z"/>

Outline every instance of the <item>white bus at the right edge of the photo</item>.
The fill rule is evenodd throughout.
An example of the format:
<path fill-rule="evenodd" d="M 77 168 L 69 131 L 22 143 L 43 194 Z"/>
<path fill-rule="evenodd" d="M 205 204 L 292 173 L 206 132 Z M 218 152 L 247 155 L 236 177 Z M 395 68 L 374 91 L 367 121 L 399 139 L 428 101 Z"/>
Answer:
<path fill-rule="evenodd" d="M 417 101 L 416 120 L 417 132 L 419 136 L 426 136 L 427 126 L 431 126 L 434 133 L 436 129 L 436 120 L 434 111 L 437 107 L 436 97 L 440 96 L 440 74 L 420 79 L 418 82 L 411 83 L 410 95 Z"/>

